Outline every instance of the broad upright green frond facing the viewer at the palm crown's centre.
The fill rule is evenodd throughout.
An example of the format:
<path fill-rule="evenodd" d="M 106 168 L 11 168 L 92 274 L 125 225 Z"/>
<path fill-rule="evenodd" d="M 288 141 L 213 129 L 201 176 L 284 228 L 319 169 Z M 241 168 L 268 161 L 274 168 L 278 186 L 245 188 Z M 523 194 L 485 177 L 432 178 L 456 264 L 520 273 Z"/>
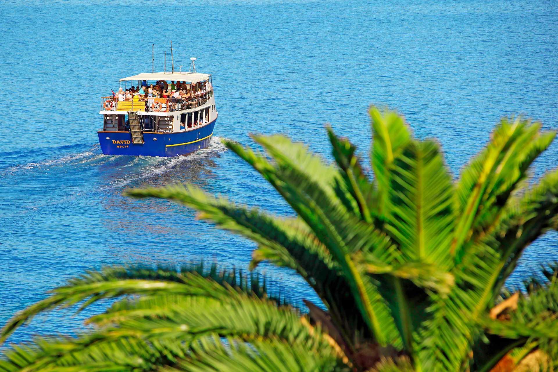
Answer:
<path fill-rule="evenodd" d="M 436 143 L 408 142 L 392 164 L 388 195 L 385 229 L 406 261 L 449 269 L 453 186 Z"/>

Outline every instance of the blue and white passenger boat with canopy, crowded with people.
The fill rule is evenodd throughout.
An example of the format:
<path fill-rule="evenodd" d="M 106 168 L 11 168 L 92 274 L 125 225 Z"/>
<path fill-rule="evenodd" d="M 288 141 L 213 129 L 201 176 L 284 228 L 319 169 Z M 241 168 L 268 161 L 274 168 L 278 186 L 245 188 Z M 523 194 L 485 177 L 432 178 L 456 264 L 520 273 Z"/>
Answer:
<path fill-rule="evenodd" d="M 188 72 L 141 73 L 120 79 L 122 92 L 138 91 L 143 85 L 145 94 L 138 91 L 130 98 L 119 90 L 102 97 L 103 128 L 97 132 L 103 154 L 172 157 L 209 146 L 217 121 L 213 80 L 209 74 L 197 73 L 195 58 L 191 60 Z M 151 84 L 161 90 L 175 86 L 186 94 L 156 98 L 147 93 Z"/>

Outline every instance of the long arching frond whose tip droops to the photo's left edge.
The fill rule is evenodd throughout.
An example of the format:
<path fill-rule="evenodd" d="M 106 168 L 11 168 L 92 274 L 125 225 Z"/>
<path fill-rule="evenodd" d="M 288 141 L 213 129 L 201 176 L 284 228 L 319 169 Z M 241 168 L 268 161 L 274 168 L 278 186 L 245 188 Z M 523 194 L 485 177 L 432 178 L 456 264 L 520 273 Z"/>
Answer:
<path fill-rule="evenodd" d="M 215 266 L 204 270 L 203 264 L 174 268 L 158 267 L 108 267 L 100 271 L 91 270 L 82 276 L 70 279 L 66 286 L 53 289 L 51 296 L 17 313 L 2 328 L 0 341 L 17 327 L 31 320 L 38 313 L 57 307 L 68 307 L 85 301 L 81 308 L 103 298 L 115 298 L 132 294 L 155 295 L 175 294 L 225 299 L 229 288 L 246 292 L 252 296 L 267 297 L 265 288 L 259 283 L 258 274 L 250 274 L 249 280 L 235 270 L 217 273 Z M 276 303 L 282 301 L 275 296 Z"/>

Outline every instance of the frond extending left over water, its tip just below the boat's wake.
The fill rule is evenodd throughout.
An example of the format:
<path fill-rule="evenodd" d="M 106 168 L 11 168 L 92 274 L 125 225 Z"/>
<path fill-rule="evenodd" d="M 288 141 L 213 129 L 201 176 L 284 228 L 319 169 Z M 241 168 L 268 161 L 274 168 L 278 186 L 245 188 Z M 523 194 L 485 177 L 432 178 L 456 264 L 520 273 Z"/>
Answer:
<path fill-rule="evenodd" d="M 262 260 L 270 260 L 273 264 L 295 269 L 328 306 L 347 344 L 354 339 L 353 330 L 363 327 L 363 318 L 349 295 L 350 287 L 340 275 L 339 265 L 304 221 L 269 216 L 257 209 L 248 210 L 223 197 L 210 197 L 195 186 L 131 190 L 128 194 L 181 201 L 199 210 L 201 218 L 257 241 L 259 245 L 253 252 L 251 267 L 256 267 Z M 339 303 L 344 307 L 336 307 Z"/>

